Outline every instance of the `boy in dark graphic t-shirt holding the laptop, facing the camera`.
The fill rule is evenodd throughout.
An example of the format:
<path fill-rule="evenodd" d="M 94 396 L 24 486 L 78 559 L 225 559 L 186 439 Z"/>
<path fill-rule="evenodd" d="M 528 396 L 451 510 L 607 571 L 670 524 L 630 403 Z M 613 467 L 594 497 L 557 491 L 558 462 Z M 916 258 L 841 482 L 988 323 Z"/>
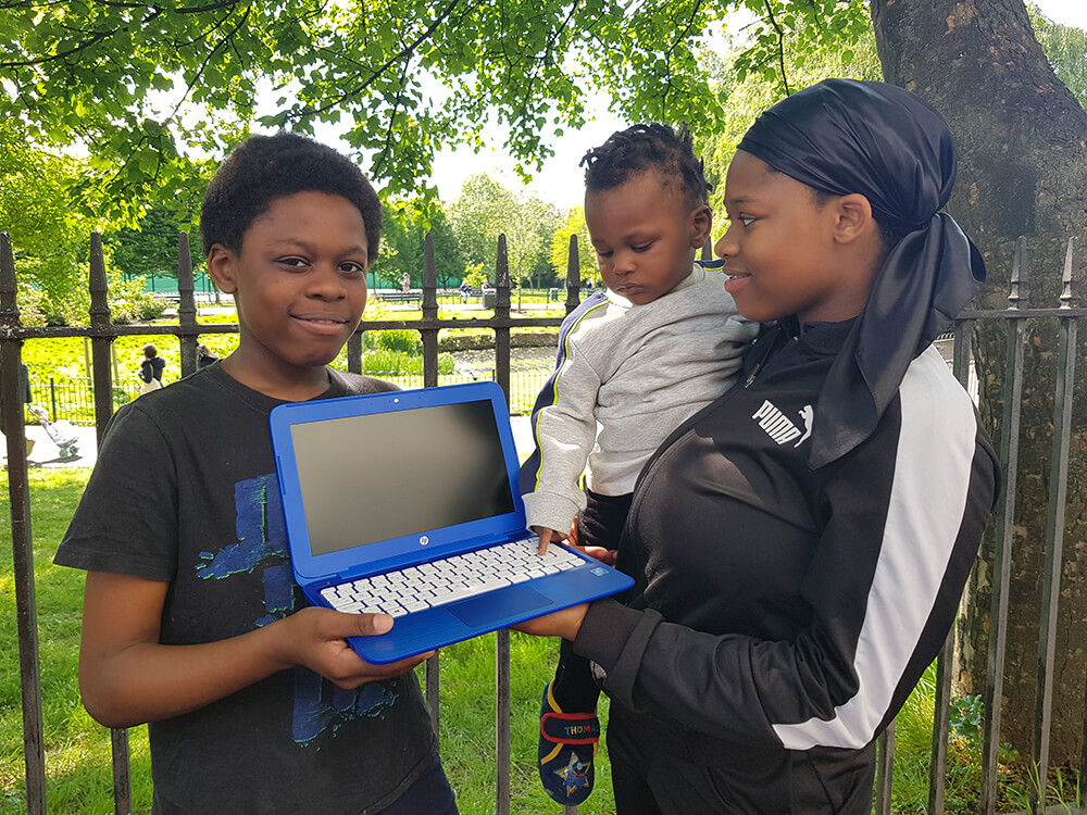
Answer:
<path fill-rule="evenodd" d="M 291 134 L 215 173 L 201 231 L 240 337 L 113 416 L 55 562 L 88 570 L 79 681 L 111 727 L 149 723 L 153 812 L 454 815 L 412 668 L 348 637 L 383 614 L 293 584 L 268 414 L 395 390 L 328 367 L 366 303 L 382 208 L 359 167 Z"/>

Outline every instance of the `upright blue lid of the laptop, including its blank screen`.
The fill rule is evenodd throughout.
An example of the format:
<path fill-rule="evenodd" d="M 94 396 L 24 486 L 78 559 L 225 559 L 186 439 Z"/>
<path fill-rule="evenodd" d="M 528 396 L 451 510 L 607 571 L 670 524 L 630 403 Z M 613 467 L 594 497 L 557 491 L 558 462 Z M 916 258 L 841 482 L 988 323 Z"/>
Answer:
<path fill-rule="evenodd" d="M 293 402 L 270 423 L 301 585 L 448 556 L 525 528 L 495 383 Z"/>

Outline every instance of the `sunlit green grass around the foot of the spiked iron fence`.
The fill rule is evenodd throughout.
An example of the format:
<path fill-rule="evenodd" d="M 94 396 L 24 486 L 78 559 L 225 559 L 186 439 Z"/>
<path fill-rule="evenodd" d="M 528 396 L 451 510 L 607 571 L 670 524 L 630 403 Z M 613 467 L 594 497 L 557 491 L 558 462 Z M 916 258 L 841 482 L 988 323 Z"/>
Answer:
<path fill-rule="evenodd" d="M 55 815 L 113 812 L 110 734 L 84 711 L 78 691 L 83 573 L 52 564 L 57 546 L 78 503 L 89 471 L 29 471 L 34 570 L 43 698 L 47 800 Z M 0 815 L 25 811 L 25 768 L 20 691 L 15 585 L 12 566 L 7 471 L 0 472 Z M 514 813 L 558 813 L 536 775 L 539 698 L 558 655 L 554 640 L 511 636 L 511 793 Z M 420 672 L 422 675 L 422 670 Z M 495 807 L 495 635 L 441 652 L 441 751 L 461 812 L 483 815 Z M 933 728 L 935 668 L 922 677 L 896 722 L 892 811 L 924 813 Z M 601 697 L 607 724 L 608 698 Z M 975 812 L 980 785 L 980 736 L 976 704 L 957 700 L 958 731 L 948 748 L 947 812 Z M 151 805 L 147 728 L 129 731 L 132 789 L 136 812 Z M 1009 760 L 1014 756 L 1009 755 Z M 614 812 L 610 765 L 601 741 L 597 786 L 579 812 Z M 1002 764 L 998 811 L 1026 808 L 1035 786 L 1029 772 Z M 1075 801 L 1075 774 L 1054 768 L 1050 802 Z"/>

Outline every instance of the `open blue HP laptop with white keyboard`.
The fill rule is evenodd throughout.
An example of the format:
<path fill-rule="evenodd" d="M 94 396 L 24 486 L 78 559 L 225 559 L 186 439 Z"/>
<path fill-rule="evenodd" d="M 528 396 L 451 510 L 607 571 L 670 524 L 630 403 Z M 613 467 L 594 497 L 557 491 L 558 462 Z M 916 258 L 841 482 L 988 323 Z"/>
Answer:
<path fill-rule="evenodd" d="M 388 663 L 629 588 L 525 528 L 502 389 L 472 383 L 275 408 L 295 579 L 315 605 L 395 618 Z"/>

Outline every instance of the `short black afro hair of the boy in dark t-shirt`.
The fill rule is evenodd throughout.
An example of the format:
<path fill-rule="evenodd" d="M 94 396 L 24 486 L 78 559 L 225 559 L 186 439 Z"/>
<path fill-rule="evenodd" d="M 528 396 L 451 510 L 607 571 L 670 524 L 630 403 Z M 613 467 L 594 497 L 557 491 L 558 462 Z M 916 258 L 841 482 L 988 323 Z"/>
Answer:
<path fill-rule="evenodd" d="M 250 136 L 215 171 L 200 215 L 204 254 L 214 243 L 240 251 L 253 221 L 275 199 L 296 192 L 327 192 L 353 203 L 366 228 L 367 261 L 377 258 L 382 202 L 366 176 L 346 155 L 292 133 Z"/>

